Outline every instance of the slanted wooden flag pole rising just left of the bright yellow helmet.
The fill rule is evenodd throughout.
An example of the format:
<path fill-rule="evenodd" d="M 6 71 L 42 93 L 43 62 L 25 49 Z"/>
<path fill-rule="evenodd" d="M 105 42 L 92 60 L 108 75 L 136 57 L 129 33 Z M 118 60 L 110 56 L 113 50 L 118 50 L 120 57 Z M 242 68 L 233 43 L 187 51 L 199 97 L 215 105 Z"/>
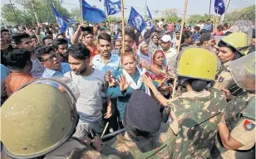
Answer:
<path fill-rule="evenodd" d="M 182 37 L 184 22 L 185 22 L 186 13 L 187 13 L 187 6 L 188 6 L 188 0 L 185 0 L 183 19 L 182 19 L 181 28 L 180 28 L 180 41 L 179 41 L 179 46 L 178 46 L 178 50 L 177 50 L 178 54 L 180 54 L 181 37 Z M 178 77 L 175 77 L 174 89 L 173 89 L 173 92 L 171 94 L 172 98 L 175 98 L 175 88 L 176 88 L 176 85 L 177 85 L 177 80 L 178 80 Z"/>

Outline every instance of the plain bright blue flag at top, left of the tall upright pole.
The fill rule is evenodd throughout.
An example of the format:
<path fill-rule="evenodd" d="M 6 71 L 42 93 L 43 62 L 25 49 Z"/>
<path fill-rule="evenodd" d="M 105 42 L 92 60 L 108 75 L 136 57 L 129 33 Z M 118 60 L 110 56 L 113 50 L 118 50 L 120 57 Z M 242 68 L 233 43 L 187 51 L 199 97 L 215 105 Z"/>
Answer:
<path fill-rule="evenodd" d="M 87 22 L 100 23 L 106 21 L 105 13 L 96 7 L 91 7 L 85 0 L 81 0 L 83 19 Z"/>

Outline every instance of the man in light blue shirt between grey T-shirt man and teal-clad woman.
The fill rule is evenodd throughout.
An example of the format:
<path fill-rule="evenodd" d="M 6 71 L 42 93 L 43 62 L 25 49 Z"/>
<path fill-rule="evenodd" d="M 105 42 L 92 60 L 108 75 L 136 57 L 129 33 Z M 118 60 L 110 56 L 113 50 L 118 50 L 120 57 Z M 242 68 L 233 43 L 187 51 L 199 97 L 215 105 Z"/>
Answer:
<path fill-rule="evenodd" d="M 98 36 L 99 55 L 95 55 L 92 59 L 92 67 L 103 71 L 116 70 L 120 67 L 120 57 L 112 54 L 111 36 L 107 33 L 101 33 Z"/>

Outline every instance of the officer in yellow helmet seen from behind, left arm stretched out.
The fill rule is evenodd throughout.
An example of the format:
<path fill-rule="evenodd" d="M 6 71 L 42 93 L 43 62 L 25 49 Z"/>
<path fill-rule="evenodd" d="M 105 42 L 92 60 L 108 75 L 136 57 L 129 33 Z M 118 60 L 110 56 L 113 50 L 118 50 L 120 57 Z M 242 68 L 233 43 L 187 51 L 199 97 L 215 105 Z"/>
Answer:
<path fill-rule="evenodd" d="M 143 82 L 156 99 L 170 108 L 170 128 L 175 133 L 171 158 L 207 158 L 213 147 L 218 123 L 226 102 L 218 89 L 206 90 L 214 81 L 217 56 L 204 48 L 190 47 L 178 55 L 176 75 L 186 92 L 175 99 L 165 99 L 148 77 Z"/>

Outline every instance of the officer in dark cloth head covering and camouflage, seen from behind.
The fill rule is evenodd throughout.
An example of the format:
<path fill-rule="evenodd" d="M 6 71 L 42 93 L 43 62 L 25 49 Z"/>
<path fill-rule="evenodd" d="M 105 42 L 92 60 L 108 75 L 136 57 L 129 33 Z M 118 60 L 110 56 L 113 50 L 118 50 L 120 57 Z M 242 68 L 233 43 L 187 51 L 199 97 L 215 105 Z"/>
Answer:
<path fill-rule="evenodd" d="M 117 135 L 102 148 L 104 154 L 121 158 L 170 158 L 175 135 L 161 123 L 160 106 L 144 91 L 135 90 L 123 118 L 125 135 Z"/>

